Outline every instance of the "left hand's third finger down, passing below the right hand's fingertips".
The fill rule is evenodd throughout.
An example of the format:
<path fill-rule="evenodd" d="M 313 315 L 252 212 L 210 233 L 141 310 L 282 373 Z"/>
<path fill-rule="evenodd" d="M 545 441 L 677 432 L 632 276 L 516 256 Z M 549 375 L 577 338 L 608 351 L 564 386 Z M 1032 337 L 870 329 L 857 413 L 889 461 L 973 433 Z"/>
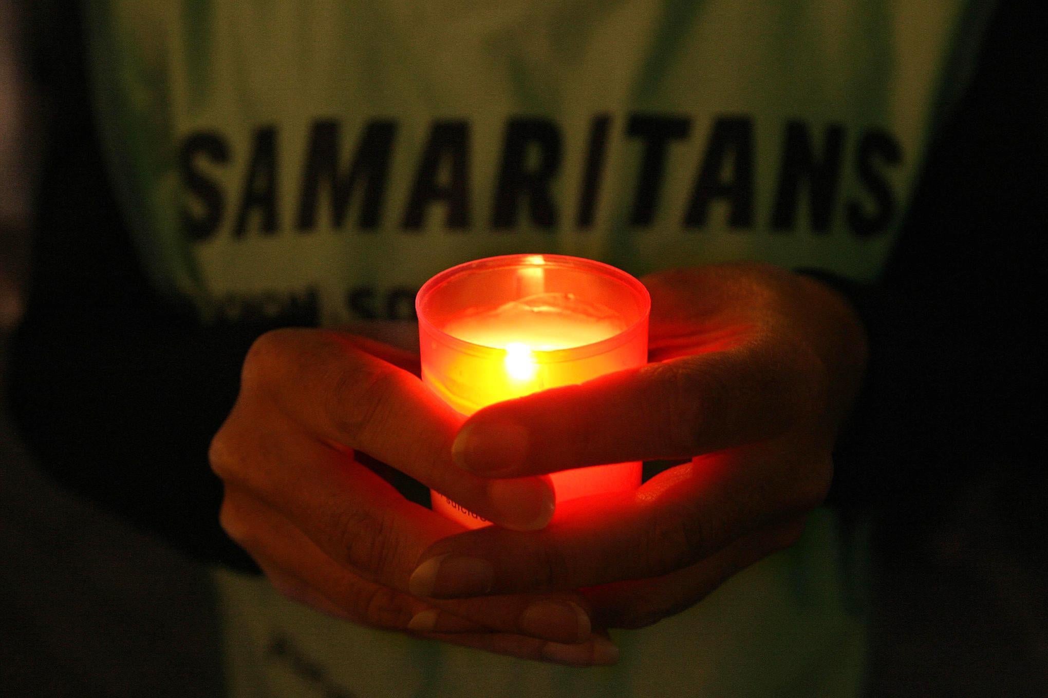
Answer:
<path fill-rule="evenodd" d="M 285 595 L 339 617 L 332 607 L 359 623 L 419 632 L 496 630 L 561 643 L 590 635 L 589 606 L 577 593 L 422 602 L 402 593 L 405 582 L 402 588 L 373 583 L 339 564 L 291 521 L 244 491 L 227 491 L 222 524 Z M 405 560 L 403 567 L 410 569 L 416 557 Z M 407 579 L 406 573 L 395 577 Z"/>

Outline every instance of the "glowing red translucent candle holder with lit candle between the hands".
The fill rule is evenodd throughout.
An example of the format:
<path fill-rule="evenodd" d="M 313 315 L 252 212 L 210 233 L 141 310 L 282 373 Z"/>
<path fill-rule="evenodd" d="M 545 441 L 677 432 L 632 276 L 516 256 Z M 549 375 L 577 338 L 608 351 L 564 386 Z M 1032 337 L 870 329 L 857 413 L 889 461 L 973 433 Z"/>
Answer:
<path fill-rule="evenodd" d="M 558 254 L 478 260 L 431 278 L 415 306 L 422 380 L 466 415 L 648 360 L 648 290 L 599 262 Z M 564 471 L 552 480 L 559 502 L 632 490 L 640 485 L 640 463 Z M 487 523 L 440 493 L 432 501 L 466 526 Z"/>

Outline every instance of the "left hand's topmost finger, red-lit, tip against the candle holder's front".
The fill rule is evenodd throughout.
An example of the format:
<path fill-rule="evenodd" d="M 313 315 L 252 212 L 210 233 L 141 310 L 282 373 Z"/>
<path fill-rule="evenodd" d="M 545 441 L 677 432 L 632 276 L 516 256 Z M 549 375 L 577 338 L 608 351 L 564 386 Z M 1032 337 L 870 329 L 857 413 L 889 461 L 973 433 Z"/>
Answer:
<path fill-rule="evenodd" d="M 244 363 L 241 399 L 269 400 L 319 440 L 364 451 L 506 527 L 549 521 L 546 479 L 495 482 L 455 468 L 451 444 L 461 416 L 415 376 L 354 346 L 361 341 L 333 332 L 267 333 Z"/>

